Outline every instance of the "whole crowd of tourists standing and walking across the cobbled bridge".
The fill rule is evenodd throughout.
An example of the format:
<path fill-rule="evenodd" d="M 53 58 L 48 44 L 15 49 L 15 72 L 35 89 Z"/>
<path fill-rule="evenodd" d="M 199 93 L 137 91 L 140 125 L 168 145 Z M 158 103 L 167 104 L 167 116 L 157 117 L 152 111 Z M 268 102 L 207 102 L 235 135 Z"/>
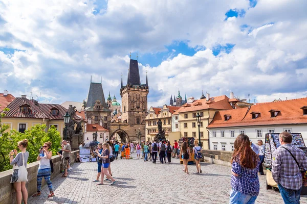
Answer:
<path fill-rule="evenodd" d="M 118 159 L 118 155 L 122 155 L 122 159 L 130 159 L 131 154 L 136 152 L 137 159 L 144 162 L 150 160 L 156 164 L 159 155 L 160 163 L 171 163 L 171 158 L 181 158 L 183 161 L 183 171 L 189 174 L 188 161 L 191 159 L 193 152 L 197 173 L 202 173 L 200 160 L 202 158 L 202 147 L 199 141 L 194 141 L 195 145 L 190 151 L 187 142 L 183 142 L 179 149 L 178 142 L 175 140 L 173 145 L 170 141 L 153 140 L 151 142 L 142 141 L 137 143 L 119 143 L 107 141 L 99 143 L 95 150 L 98 163 L 98 174 L 93 182 L 99 182 L 97 185 L 103 185 L 104 181 L 110 181 L 111 185 L 116 184 L 113 177 L 111 163 Z M 307 169 L 307 158 L 300 148 L 292 145 L 292 135 L 287 132 L 279 134 L 280 146 L 272 155 L 272 176 L 276 182 L 284 203 L 299 203 L 300 193 L 303 186 L 303 177 L 301 169 Z M 51 142 L 43 143 L 43 146 L 37 152 L 37 161 L 39 167 L 37 171 L 37 192 L 33 195 L 40 196 L 41 181 L 45 179 L 50 194 L 48 197 L 54 196 L 52 182 L 50 176 L 53 172 L 53 164 L 51 162 L 52 151 Z M 27 203 L 28 192 L 26 188 L 27 180 L 27 161 L 29 152 L 27 151 L 28 140 L 18 142 L 18 153 L 16 149 L 10 151 L 10 163 L 13 165 L 13 173 L 11 183 L 13 183 L 16 191 L 16 201 Z M 232 203 L 255 203 L 259 195 L 260 185 L 258 175 L 263 175 L 262 162 L 264 159 L 265 146 L 261 140 L 258 144 L 253 144 L 249 137 L 245 134 L 237 136 L 234 142 L 233 157 L 231 159 L 231 192 L 229 202 Z M 57 152 L 61 157 L 62 177 L 67 177 L 70 171 L 70 155 L 71 146 L 69 141 L 62 141 L 62 148 Z M 166 162 L 167 158 L 167 162 Z M 17 169 L 17 171 L 16 171 Z M 100 181 L 99 181 L 100 180 Z"/>

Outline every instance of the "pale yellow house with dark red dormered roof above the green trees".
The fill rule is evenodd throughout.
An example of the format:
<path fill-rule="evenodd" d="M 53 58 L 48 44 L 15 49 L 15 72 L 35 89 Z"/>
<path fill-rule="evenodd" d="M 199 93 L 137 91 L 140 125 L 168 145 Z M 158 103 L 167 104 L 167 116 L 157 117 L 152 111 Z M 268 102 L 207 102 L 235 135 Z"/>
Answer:
<path fill-rule="evenodd" d="M 36 124 L 46 124 L 46 131 L 54 125 L 63 137 L 63 116 L 67 109 L 58 104 L 39 104 L 34 99 L 27 99 L 25 95 L 15 98 L 8 106 L 3 124 L 10 126 L 9 130 L 25 132 Z"/>

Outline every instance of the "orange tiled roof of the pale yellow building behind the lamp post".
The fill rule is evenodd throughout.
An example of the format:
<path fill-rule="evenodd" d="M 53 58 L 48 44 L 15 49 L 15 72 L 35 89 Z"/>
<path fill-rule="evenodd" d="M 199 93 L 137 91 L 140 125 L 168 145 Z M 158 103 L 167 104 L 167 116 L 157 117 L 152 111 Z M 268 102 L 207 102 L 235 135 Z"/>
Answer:
<path fill-rule="evenodd" d="M 184 113 L 184 112 L 199 111 L 205 109 L 217 109 L 217 110 L 233 109 L 232 106 L 229 104 L 229 98 L 226 95 L 211 97 L 209 98 L 209 100 L 207 100 L 206 98 L 194 100 L 193 103 L 190 103 L 190 105 L 191 106 L 183 107 L 178 112 Z"/>

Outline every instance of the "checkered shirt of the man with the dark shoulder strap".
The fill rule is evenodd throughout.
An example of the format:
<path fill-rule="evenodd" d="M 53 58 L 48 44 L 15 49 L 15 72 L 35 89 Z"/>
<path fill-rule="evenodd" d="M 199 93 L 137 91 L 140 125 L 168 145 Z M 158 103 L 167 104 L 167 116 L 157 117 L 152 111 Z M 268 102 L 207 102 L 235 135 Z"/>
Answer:
<path fill-rule="evenodd" d="M 302 187 L 302 175 L 300 169 L 290 152 L 281 147 L 286 147 L 291 151 L 300 167 L 304 170 L 307 169 L 307 158 L 303 150 L 291 144 L 280 145 L 273 153 L 272 175 L 274 181 L 284 188 L 298 190 Z"/>

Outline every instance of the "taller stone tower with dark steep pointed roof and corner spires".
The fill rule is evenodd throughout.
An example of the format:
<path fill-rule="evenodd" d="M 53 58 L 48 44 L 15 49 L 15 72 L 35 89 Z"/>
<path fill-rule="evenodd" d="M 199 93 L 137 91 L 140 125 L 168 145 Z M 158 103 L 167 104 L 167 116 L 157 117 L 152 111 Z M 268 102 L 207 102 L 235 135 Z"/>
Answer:
<path fill-rule="evenodd" d="M 148 92 L 147 75 L 146 84 L 141 84 L 138 61 L 130 59 L 127 85 L 121 85 L 120 89 L 122 97 L 121 121 L 129 123 L 131 128 L 140 128 L 142 136 L 145 136 Z"/>

